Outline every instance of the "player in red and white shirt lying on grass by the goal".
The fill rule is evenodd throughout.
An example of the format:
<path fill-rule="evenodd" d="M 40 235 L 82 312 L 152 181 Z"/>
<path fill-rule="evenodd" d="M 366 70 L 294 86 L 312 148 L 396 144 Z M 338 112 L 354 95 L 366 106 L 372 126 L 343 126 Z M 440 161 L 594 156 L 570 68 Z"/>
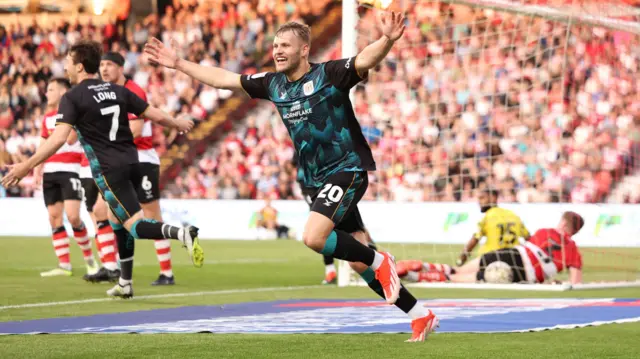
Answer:
<path fill-rule="evenodd" d="M 582 256 L 571 237 L 583 225 L 579 214 L 565 212 L 556 228 L 538 230 L 523 245 L 483 254 L 471 273 L 460 273 L 447 264 L 400 261 L 398 274 L 412 282 L 544 283 L 566 267 L 570 283 L 578 284 L 582 282 Z"/>

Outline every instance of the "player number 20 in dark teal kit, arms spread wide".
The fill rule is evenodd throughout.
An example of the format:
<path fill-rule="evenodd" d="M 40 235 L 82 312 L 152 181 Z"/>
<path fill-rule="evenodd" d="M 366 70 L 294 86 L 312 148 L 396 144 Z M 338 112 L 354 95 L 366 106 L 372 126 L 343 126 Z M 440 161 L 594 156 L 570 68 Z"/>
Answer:
<path fill-rule="evenodd" d="M 357 204 L 368 186 L 367 171 L 375 170 L 375 162 L 355 118 L 349 91 L 386 57 L 404 32 L 403 22 L 400 14 L 383 13 L 379 40 L 356 57 L 318 64 L 309 63 L 309 27 L 287 23 L 273 41 L 276 72 L 254 75 L 186 61 L 157 39 L 145 45 L 152 63 L 177 69 L 215 88 L 244 90 L 252 98 L 276 105 L 298 154 L 305 194 L 312 202 L 303 233 L 305 245 L 323 255 L 362 263 L 363 277 L 377 283 L 390 304 L 410 294 L 401 291 L 393 257 L 357 239 L 364 230 L 356 220 Z M 420 305 L 415 305 L 415 311 L 420 318 L 412 322 L 411 340 L 420 341 L 435 329 L 438 319 Z"/>

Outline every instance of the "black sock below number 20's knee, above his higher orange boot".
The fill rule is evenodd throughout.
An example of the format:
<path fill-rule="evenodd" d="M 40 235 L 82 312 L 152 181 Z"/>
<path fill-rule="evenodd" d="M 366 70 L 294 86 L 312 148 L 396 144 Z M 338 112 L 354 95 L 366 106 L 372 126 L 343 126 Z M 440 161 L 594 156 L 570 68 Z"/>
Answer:
<path fill-rule="evenodd" d="M 329 234 L 321 253 L 347 262 L 362 262 L 367 266 L 373 264 L 376 255 L 373 249 L 339 229 L 335 229 Z"/>

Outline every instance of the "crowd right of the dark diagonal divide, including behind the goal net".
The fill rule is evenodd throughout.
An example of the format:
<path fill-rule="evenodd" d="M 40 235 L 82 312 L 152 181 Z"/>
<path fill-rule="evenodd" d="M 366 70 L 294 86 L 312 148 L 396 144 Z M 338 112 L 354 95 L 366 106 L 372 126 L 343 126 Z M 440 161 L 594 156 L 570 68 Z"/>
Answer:
<path fill-rule="evenodd" d="M 638 36 L 574 26 L 566 44 L 559 24 L 466 16 L 454 23 L 432 3 L 413 7 L 403 39 L 356 89 L 378 166 L 365 199 L 473 201 L 492 187 L 501 202 L 604 201 L 639 165 Z M 372 17 L 361 14 L 360 49 L 380 35 Z M 330 57 L 339 55 L 337 47 Z M 170 195 L 299 198 L 275 111 L 237 132 Z M 632 188 L 623 201 L 640 203 L 640 186 Z"/>

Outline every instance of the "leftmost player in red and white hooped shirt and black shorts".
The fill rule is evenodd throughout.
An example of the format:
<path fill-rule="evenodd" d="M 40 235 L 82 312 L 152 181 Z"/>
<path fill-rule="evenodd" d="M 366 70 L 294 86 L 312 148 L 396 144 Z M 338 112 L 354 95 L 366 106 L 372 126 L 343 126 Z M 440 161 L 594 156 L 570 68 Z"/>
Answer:
<path fill-rule="evenodd" d="M 60 99 L 71 88 L 65 79 L 53 79 L 47 85 L 47 112 L 42 120 L 40 145 L 49 138 L 56 127 L 58 105 Z M 82 147 L 75 133 L 69 135 L 65 143 L 53 156 L 36 169 L 36 180 L 42 179 L 44 203 L 49 212 L 49 223 L 53 232 L 53 248 L 58 257 L 58 267 L 40 273 L 43 277 L 70 276 L 71 262 L 69 258 L 69 235 L 63 224 L 63 212 L 73 228 L 73 237 L 82 249 L 87 266 L 87 274 L 98 271 L 93 257 L 91 241 L 87 237 L 87 229 L 80 219 L 82 186 L 80 185 L 80 161 Z"/>

